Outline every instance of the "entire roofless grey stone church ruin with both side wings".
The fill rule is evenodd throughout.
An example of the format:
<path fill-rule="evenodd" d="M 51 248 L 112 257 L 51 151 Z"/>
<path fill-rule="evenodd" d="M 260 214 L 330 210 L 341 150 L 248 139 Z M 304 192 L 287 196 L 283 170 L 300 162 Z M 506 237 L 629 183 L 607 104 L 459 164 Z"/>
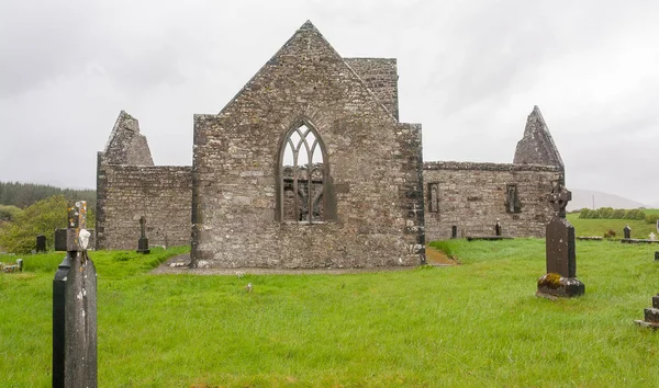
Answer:
<path fill-rule="evenodd" d="M 543 237 L 563 163 L 537 109 L 513 163 L 423 161 L 399 122 L 395 59 L 343 58 L 311 22 L 217 114 L 194 115 L 191 167 L 154 166 L 121 112 L 98 153 L 97 249 L 191 246 L 197 267 L 376 267 L 425 242 Z"/>

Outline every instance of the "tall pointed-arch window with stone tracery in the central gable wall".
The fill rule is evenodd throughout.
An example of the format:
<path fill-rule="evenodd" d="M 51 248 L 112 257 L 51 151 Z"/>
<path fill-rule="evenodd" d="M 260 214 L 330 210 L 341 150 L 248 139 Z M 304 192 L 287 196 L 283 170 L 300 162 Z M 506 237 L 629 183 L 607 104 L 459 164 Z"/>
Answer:
<path fill-rule="evenodd" d="M 302 123 L 289 130 L 280 150 L 279 216 L 302 224 L 326 219 L 325 149 L 317 133 Z"/>

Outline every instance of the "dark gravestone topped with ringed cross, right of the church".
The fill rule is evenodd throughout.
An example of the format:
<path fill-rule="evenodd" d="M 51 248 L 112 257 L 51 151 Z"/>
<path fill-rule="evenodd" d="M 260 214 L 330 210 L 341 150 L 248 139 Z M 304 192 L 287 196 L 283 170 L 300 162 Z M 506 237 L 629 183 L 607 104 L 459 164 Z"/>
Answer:
<path fill-rule="evenodd" d="M 538 279 L 538 296 L 572 297 L 585 292 L 585 285 L 577 278 L 574 227 L 565 218 L 570 199 L 572 193 L 560 182 L 555 183 L 549 203 L 556 214 L 547 225 L 547 273 Z"/>

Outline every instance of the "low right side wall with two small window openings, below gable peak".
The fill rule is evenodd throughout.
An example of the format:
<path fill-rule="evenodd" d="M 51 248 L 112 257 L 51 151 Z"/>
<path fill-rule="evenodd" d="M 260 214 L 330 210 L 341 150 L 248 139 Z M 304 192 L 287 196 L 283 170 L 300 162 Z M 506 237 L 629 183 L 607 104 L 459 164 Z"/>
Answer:
<path fill-rule="evenodd" d="M 470 162 L 424 163 L 426 240 L 450 238 L 451 226 L 458 237 L 494 236 L 496 218 L 502 235 L 544 237 L 552 209 L 547 202 L 551 182 L 562 176 L 558 167 Z M 438 212 L 428 210 L 428 187 L 438 186 Z M 506 185 L 516 184 L 520 213 L 506 209 Z"/>

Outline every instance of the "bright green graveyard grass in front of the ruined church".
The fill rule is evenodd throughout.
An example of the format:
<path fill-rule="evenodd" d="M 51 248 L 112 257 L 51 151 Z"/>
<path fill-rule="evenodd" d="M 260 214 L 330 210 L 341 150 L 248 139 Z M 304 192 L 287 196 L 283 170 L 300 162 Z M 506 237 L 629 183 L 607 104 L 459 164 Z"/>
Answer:
<path fill-rule="evenodd" d="M 659 332 L 633 323 L 659 247 L 579 241 L 587 294 L 552 301 L 544 240 L 435 246 L 461 265 L 238 278 L 148 274 L 181 249 L 92 252 L 99 386 L 659 386 Z M 62 254 L 24 259 L 0 275 L 0 386 L 46 387 Z"/>

